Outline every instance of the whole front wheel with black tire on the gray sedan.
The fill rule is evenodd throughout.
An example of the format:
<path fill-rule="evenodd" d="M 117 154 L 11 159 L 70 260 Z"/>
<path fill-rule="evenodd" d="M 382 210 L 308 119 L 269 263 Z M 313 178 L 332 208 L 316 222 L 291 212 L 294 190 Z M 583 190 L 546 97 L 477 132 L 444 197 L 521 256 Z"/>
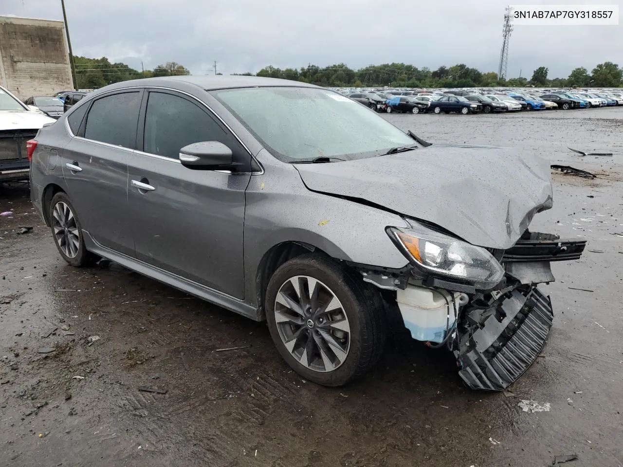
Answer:
<path fill-rule="evenodd" d="M 379 294 L 329 259 L 302 255 L 281 265 L 270 278 L 265 310 L 279 354 L 317 384 L 346 384 L 383 352 Z"/>

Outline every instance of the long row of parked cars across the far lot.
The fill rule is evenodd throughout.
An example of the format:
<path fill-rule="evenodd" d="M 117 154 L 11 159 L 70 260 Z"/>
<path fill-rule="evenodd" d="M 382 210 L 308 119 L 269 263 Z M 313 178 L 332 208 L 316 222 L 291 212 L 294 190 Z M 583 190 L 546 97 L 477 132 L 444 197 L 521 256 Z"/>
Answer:
<path fill-rule="evenodd" d="M 520 110 L 569 110 L 623 105 L 623 93 L 554 91 L 536 97 L 528 93 L 481 94 L 470 91 L 447 92 L 359 92 L 348 95 L 375 111 L 402 113 L 492 113 Z"/>

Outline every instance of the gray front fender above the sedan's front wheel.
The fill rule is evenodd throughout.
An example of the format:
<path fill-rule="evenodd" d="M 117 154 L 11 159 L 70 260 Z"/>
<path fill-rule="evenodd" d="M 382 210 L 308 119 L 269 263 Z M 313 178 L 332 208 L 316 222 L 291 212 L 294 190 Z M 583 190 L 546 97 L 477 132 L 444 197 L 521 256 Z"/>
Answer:
<path fill-rule="evenodd" d="M 258 154 L 260 162 L 262 153 Z M 408 227 L 402 217 L 309 191 L 292 164 L 273 159 L 263 165 L 265 173 L 251 177 L 245 194 L 245 297 L 249 300 L 257 296 L 251 278 L 257 275 L 262 257 L 283 242 L 306 243 L 338 260 L 364 265 L 407 265 L 407 258 L 385 230 L 388 225 Z"/>

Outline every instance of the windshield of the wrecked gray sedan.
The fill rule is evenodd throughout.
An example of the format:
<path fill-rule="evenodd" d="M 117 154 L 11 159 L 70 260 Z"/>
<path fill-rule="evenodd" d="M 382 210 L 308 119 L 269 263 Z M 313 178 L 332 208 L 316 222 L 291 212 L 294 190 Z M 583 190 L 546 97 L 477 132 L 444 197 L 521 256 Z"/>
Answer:
<path fill-rule="evenodd" d="M 326 89 L 265 87 L 211 93 L 285 162 L 360 159 L 416 144 L 365 106 Z"/>

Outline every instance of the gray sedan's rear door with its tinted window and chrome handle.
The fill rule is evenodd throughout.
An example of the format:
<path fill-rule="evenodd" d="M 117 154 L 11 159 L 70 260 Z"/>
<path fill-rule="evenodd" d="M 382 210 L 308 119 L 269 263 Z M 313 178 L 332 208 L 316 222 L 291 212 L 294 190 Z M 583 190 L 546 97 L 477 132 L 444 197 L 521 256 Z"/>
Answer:
<path fill-rule="evenodd" d="M 127 162 L 136 147 L 142 95 L 143 90 L 120 90 L 87 103 L 62 154 L 67 191 L 83 230 L 100 245 L 131 256 Z"/>

